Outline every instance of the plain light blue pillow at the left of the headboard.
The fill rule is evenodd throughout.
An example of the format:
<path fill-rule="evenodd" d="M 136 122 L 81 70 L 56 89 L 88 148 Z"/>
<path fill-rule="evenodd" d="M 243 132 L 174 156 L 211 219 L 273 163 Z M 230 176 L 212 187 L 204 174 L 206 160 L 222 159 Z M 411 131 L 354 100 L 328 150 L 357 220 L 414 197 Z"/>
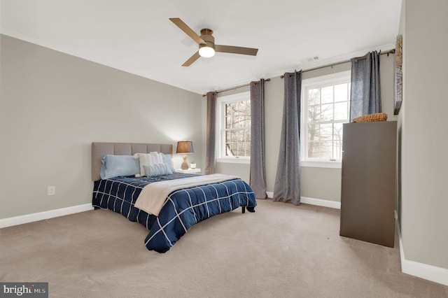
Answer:
<path fill-rule="evenodd" d="M 118 176 L 134 176 L 140 173 L 140 161 L 132 155 L 105 155 L 101 159 L 100 176 L 109 179 Z"/>

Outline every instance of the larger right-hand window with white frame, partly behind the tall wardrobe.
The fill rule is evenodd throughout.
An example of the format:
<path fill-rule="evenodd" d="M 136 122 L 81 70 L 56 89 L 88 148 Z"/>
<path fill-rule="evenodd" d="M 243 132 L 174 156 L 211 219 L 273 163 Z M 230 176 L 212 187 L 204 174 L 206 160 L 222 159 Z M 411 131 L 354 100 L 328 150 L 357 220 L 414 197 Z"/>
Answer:
<path fill-rule="evenodd" d="M 340 166 L 349 103 L 350 71 L 302 81 L 302 165 Z"/>

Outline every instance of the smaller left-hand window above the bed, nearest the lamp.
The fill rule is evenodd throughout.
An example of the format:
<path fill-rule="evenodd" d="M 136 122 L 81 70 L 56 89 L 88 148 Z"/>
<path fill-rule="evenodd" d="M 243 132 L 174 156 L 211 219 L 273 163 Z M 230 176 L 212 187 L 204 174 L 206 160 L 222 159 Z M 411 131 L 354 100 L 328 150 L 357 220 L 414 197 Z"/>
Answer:
<path fill-rule="evenodd" d="M 251 157 L 251 92 L 218 97 L 216 104 L 218 162 L 249 162 Z"/>

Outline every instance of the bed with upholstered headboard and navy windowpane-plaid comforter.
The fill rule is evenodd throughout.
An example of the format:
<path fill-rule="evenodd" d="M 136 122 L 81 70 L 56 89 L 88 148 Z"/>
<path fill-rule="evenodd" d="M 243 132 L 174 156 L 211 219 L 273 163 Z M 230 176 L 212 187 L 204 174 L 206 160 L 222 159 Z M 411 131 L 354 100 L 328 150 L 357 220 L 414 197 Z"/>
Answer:
<path fill-rule="evenodd" d="M 152 158 L 157 155 L 166 158 L 164 162 L 170 162 L 172 152 L 171 144 L 92 143 L 92 206 L 120 213 L 128 220 L 144 225 L 149 230 L 144 240 L 145 246 L 148 250 L 158 253 L 167 252 L 197 222 L 239 207 L 242 213 L 245 210 L 255 212 L 255 194 L 251 187 L 238 177 L 219 176 L 220 174 L 202 176 L 175 171 L 169 173 L 168 169 L 167 173 L 155 176 L 141 176 L 137 173 L 140 177 L 128 175 L 129 171 L 121 171 L 118 174 L 113 172 L 111 175 L 104 172 L 103 164 L 108 160 L 106 157 L 113 161 L 118 158 L 132 160 L 130 156 L 133 156 L 137 161 L 140 160 L 141 166 L 144 162 L 138 159 L 138 156 L 151 155 Z M 165 168 L 172 167 L 172 164 L 163 165 Z M 149 170 L 146 165 L 144 169 L 141 168 L 141 173 L 148 173 Z M 207 179 L 209 182 L 198 182 Z M 151 200 L 157 197 L 148 189 L 172 184 L 177 185 L 172 186 L 175 190 L 169 189 L 169 193 L 165 194 L 167 189 L 164 189 L 164 192 L 158 193 L 158 196 L 163 197 L 160 208 L 156 211 L 148 209 L 147 205 L 152 207 L 154 204 Z M 141 203 L 143 199 L 146 199 L 146 205 Z"/>

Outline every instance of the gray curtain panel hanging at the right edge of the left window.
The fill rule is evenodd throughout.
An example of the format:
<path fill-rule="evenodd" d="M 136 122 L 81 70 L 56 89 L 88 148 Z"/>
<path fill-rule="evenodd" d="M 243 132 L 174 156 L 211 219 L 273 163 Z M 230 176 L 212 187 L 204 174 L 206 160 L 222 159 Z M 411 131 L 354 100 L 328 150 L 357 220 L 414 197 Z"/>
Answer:
<path fill-rule="evenodd" d="M 257 199 L 266 199 L 265 80 L 251 82 L 251 185 Z"/>

